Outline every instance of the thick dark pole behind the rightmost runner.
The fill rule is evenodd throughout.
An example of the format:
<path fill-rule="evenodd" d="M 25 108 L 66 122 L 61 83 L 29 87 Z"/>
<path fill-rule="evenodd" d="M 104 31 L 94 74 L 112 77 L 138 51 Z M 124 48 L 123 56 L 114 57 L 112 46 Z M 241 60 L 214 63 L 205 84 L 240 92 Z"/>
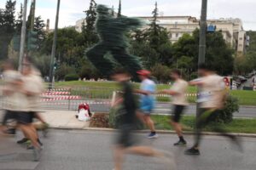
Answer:
<path fill-rule="evenodd" d="M 199 53 L 198 53 L 198 66 L 205 63 L 206 60 L 206 35 L 207 34 L 207 0 L 201 1 L 201 20 L 200 20 L 200 40 L 199 40 Z M 201 89 L 197 88 L 197 94 L 200 94 Z M 199 97 L 197 95 L 197 97 Z M 196 105 L 196 116 L 200 115 L 200 105 Z"/>

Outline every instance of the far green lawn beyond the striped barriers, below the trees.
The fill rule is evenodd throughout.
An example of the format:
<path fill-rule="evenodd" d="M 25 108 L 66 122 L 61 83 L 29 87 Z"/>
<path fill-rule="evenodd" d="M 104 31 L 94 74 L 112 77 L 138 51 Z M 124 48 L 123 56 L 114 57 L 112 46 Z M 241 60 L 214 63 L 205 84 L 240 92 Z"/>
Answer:
<path fill-rule="evenodd" d="M 139 83 L 134 83 L 135 87 L 139 87 Z M 96 96 L 96 97 L 101 97 L 103 96 L 111 96 L 113 89 L 118 89 L 119 86 L 117 85 L 116 82 L 84 82 L 84 81 L 73 81 L 73 82 L 55 82 L 55 87 L 60 88 L 60 87 L 69 87 L 69 88 L 78 88 L 78 87 L 84 87 L 84 90 L 80 90 L 78 88 L 77 90 L 73 89 L 73 94 L 75 95 L 85 95 L 88 96 Z M 87 88 L 93 88 L 88 92 Z M 98 89 L 96 89 L 98 88 Z M 105 88 L 105 90 L 104 90 Z M 109 89 L 107 89 L 109 88 Z M 111 89 L 113 88 L 113 89 Z M 158 90 L 160 89 L 166 89 L 170 88 L 170 85 L 166 84 L 160 84 L 157 86 Z M 86 89 L 86 90 L 85 90 Z M 88 94 L 89 93 L 89 94 Z M 188 89 L 189 94 L 195 94 L 196 93 L 196 88 L 195 87 L 189 87 Z M 236 98 L 239 99 L 239 104 L 240 105 L 255 105 L 256 106 L 256 91 L 246 91 L 246 90 L 232 90 L 230 91 L 230 94 L 234 95 Z M 105 98 L 104 98 L 105 99 Z M 189 97 L 189 102 L 190 103 L 195 103 L 195 97 Z M 161 102 L 166 102 L 170 101 L 169 97 L 158 97 L 158 101 Z"/>

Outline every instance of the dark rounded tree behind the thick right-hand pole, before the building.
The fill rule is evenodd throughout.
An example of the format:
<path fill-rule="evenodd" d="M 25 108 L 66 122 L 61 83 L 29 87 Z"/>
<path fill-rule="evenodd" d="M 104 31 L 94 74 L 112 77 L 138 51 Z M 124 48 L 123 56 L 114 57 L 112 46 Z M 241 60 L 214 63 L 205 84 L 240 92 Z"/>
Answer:
<path fill-rule="evenodd" d="M 184 34 L 183 37 L 173 44 L 173 67 L 177 66 L 177 61 L 183 57 L 189 57 L 189 72 L 197 70 L 199 30 L 195 30 L 193 35 Z M 224 41 L 221 31 L 207 32 L 207 54 L 206 62 L 212 65 L 220 75 L 229 75 L 233 72 L 234 50 Z"/>

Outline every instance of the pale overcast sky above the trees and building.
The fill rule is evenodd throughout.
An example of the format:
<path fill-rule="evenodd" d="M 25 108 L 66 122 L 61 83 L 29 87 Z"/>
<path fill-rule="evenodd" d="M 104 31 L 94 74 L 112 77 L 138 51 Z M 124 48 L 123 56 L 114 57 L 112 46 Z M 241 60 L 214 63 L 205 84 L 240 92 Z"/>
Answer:
<path fill-rule="evenodd" d="M 0 0 L 4 8 L 6 0 Z M 76 20 L 84 18 L 83 11 L 89 7 L 90 0 L 61 0 L 59 26 L 74 26 Z M 148 16 L 154 9 L 155 0 L 122 0 L 122 14 L 128 16 Z M 158 0 L 159 10 L 164 15 L 191 15 L 200 17 L 201 0 Z M 23 0 L 17 0 L 17 11 Z M 31 3 L 31 0 L 28 0 Z M 57 0 L 37 0 L 36 15 L 50 20 L 54 27 Z M 119 0 L 96 0 L 117 10 Z M 30 5 L 28 6 L 30 7 Z M 256 31 L 256 0 L 208 0 L 208 19 L 240 18 L 245 30 Z"/>

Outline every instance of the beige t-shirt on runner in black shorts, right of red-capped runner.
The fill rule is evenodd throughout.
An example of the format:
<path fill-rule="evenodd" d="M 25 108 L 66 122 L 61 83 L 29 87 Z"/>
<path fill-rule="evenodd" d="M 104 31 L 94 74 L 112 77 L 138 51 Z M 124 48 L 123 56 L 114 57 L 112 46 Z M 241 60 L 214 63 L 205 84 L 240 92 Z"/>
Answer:
<path fill-rule="evenodd" d="M 171 90 L 177 94 L 172 96 L 173 105 L 188 105 L 186 93 L 188 89 L 188 82 L 178 79 L 173 83 Z"/>

